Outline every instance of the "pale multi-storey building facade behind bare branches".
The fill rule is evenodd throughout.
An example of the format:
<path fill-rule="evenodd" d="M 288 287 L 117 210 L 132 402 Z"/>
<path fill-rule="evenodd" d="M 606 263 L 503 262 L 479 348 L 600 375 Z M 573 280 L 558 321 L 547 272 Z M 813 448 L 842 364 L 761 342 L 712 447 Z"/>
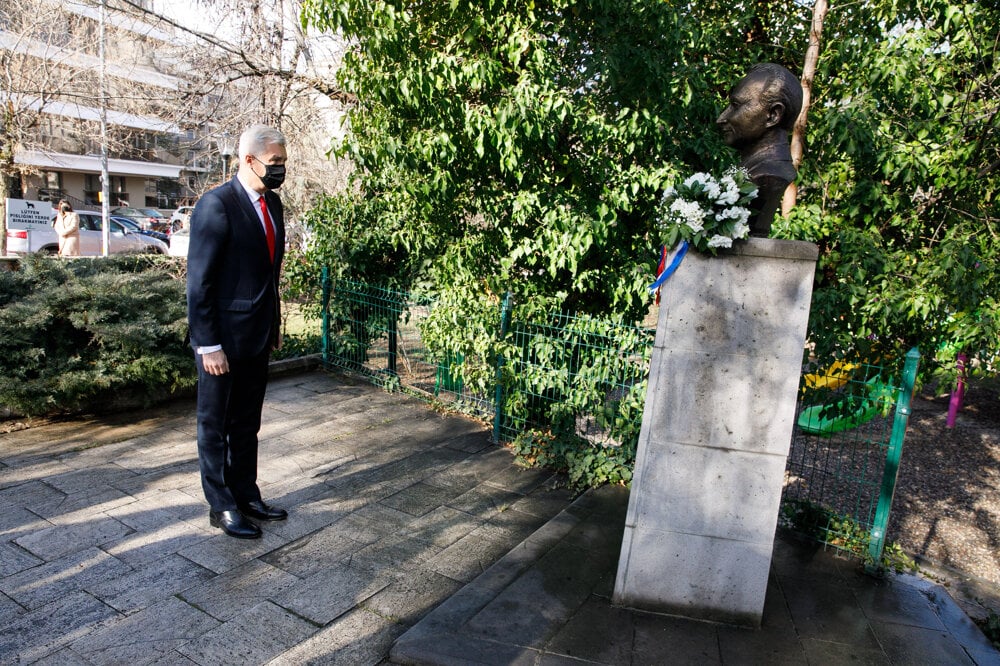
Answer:
<path fill-rule="evenodd" d="M 17 137 L 10 197 L 99 209 L 102 145 L 111 206 L 172 209 L 220 180 L 211 100 L 194 94 L 182 57 L 189 37 L 154 25 L 142 2 L 106 0 L 102 20 L 98 0 L 11 1 L 0 51 L 19 80 L 0 95 L 33 123 Z"/>

